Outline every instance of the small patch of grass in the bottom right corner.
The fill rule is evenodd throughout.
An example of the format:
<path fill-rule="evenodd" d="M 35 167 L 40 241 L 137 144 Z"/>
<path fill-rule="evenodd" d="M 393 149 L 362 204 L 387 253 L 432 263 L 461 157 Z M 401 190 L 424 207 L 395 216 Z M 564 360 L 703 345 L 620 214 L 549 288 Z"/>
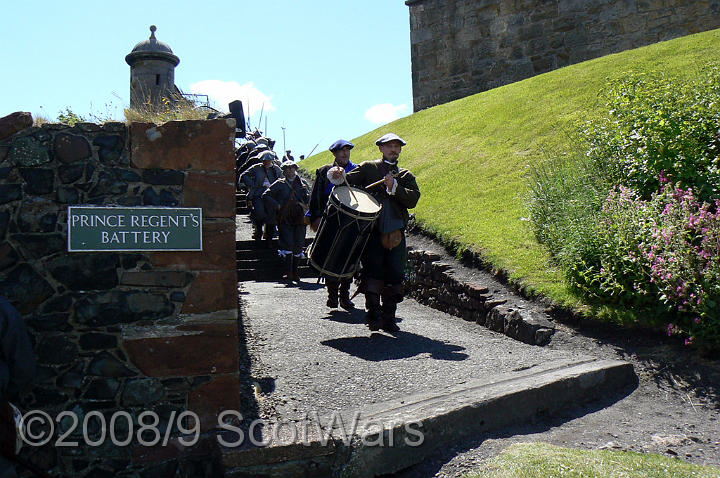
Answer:
<path fill-rule="evenodd" d="M 512 445 L 465 478 L 720 478 L 720 468 L 660 455 Z"/>

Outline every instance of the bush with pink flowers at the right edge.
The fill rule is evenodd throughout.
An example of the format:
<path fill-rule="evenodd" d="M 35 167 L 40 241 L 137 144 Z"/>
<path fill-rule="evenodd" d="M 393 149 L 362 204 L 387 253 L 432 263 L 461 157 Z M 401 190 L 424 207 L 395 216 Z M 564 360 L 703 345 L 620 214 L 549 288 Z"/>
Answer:
<path fill-rule="evenodd" d="M 672 186 L 644 200 L 619 186 L 592 232 L 566 264 L 586 298 L 664 324 L 686 344 L 720 345 L 720 201 Z"/>

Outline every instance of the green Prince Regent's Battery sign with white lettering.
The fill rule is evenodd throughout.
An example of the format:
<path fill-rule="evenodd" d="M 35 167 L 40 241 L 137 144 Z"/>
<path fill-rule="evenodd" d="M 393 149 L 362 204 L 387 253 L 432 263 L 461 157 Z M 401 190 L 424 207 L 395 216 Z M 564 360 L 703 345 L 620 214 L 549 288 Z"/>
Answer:
<path fill-rule="evenodd" d="M 68 206 L 68 251 L 202 251 L 202 209 Z"/>

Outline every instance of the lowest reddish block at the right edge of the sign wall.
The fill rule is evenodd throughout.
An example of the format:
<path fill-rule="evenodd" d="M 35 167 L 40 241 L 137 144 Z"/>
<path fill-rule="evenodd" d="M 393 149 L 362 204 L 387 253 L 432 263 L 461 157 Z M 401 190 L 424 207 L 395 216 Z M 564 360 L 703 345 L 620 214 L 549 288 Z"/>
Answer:
<path fill-rule="evenodd" d="M 224 375 L 190 392 L 188 409 L 200 418 L 201 431 L 218 428 L 218 414 L 241 410 L 240 383 L 237 374 Z"/>

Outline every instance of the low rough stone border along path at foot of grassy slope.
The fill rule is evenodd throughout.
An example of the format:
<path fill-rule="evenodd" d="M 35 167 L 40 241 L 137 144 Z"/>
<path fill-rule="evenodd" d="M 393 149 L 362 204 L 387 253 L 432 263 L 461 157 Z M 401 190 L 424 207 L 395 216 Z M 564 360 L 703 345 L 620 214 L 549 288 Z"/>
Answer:
<path fill-rule="evenodd" d="M 493 289 L 456 277 L 454 264 L 425 250 L 408 250 L 407 294 L 441 310 L 531 345 L 549 342 L 555 326 L 548 317 L 504 288 Z"/>

